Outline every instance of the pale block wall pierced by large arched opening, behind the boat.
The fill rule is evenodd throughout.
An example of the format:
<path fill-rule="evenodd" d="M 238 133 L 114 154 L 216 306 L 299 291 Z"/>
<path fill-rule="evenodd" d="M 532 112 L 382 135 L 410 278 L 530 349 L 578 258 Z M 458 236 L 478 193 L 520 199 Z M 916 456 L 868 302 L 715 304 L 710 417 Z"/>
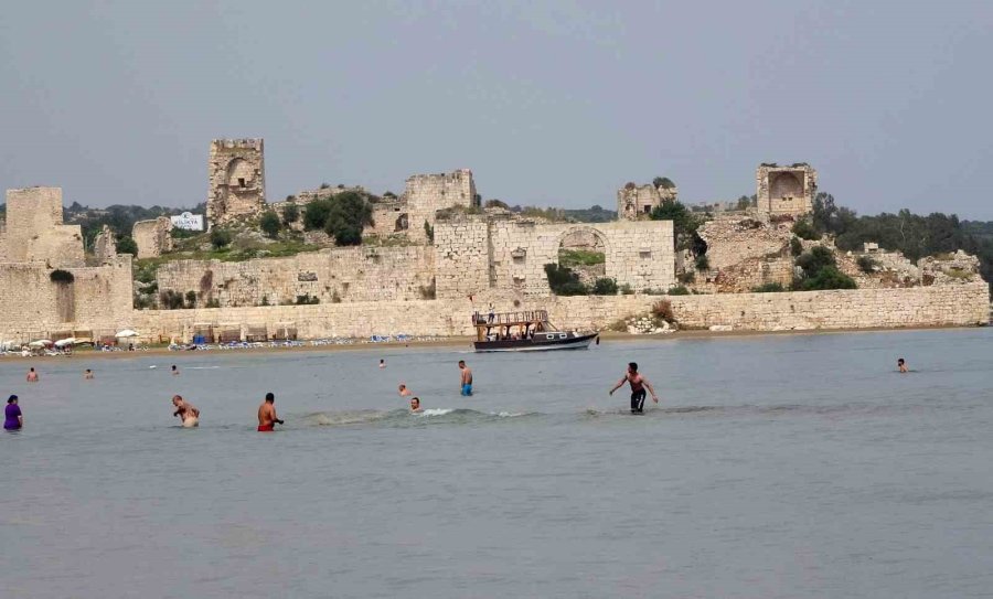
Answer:
<path fill-rule="evenodd" d="M 672 222 L 535 224 L 493 220 L 490 223 L 491 281 L 496 289 L 525 296 L 549 295 L 546 264 L 558 264 L 568 237 L 594 236 L 604 247 L 606 277 L 636 291 L 675 285 Z"/>

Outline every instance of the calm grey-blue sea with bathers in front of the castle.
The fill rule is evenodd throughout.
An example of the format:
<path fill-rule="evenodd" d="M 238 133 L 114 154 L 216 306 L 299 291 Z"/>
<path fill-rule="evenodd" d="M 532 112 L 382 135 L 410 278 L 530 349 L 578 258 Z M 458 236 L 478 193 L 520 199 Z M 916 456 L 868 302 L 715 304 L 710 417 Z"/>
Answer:
<path fill-rule="evenodd" d="M 991 597 L 991 329 L 6 359 L 0 595 Z"/>

